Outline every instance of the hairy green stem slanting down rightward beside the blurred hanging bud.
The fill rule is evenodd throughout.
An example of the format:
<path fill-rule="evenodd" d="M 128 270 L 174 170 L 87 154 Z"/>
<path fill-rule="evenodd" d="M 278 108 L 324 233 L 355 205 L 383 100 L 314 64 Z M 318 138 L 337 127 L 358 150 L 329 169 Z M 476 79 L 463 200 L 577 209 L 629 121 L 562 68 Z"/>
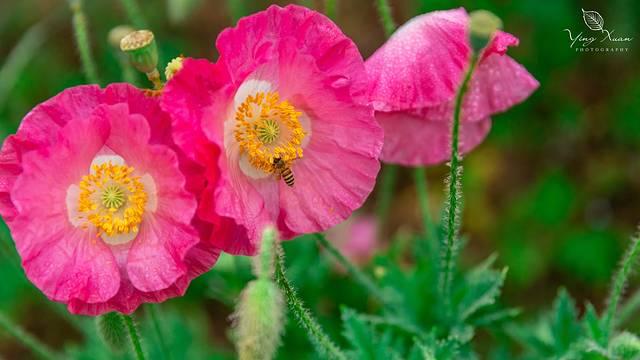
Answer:
<path fill-rule="evenodd" d="M 319 354 L 325 355 L 330 359 L 346 360 L 347 356 L 322 330 L 318 321 L 311 315 L 309 310 L 305 308 L 302 300 L 298 298 L 295 289 L 287 279 L 284 270 L 284 251 L 282 250 L 282 247 L 277 245 L 276 251 L 276 282 L 287 298 L 289 309 L 296 317 L 296 320 L 298 320 L 300 326 L 307 332 L 309 340 Z"/>

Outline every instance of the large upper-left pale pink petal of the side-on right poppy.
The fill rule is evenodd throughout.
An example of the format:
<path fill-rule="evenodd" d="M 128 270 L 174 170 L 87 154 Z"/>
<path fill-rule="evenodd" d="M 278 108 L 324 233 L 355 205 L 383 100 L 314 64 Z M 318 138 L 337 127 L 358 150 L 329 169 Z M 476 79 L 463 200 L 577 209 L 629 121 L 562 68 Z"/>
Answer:
<path fill-rule="evenodd" d="M 470 48 L 464 9 L 434 11 L 401 26 L 365 63 L 379 111 L 438 105 L 455 95 Z"/>

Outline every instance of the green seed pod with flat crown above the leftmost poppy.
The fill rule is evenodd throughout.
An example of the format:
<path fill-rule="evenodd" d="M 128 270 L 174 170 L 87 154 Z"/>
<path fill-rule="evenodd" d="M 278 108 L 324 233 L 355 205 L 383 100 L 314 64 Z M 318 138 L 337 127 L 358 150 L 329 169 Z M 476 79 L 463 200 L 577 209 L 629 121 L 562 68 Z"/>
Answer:
<path fill-rule="evenodd" d="M 134 31 L 123 37 L 120 49 L 129 55 L 133 66 L 148 74 L 158 66 L 158 46 L 153 33 L 149 30 Z"/>

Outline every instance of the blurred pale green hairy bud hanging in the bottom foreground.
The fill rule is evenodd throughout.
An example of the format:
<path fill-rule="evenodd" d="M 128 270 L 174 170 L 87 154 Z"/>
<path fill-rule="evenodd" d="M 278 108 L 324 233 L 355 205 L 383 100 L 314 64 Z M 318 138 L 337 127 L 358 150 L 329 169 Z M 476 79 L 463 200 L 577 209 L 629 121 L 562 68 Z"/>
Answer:
<path fill-rule="evenodd" d="M 273 281 L 276 230 L 262 235 L 260 254 L 254 257 L 256 280 L 243 290 L 232 316 L 240 360 L 270 360 L 275 357 L 284 330 L 284 299 Z"/>

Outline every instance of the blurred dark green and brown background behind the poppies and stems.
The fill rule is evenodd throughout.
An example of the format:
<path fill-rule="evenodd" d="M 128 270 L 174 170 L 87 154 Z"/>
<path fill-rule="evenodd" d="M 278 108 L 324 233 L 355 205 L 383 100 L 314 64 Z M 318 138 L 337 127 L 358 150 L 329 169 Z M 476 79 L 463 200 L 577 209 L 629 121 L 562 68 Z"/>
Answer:
<path fill-rule="evenodd" d="M 238 17 L 291 1 L 139 1 L 159 41 L 162 63 L 185 54 L 214 59 L 214 41 Z M 560 286 L 578 304 L 602 308 L 609 281 L 640 220 L 640 3 L 634 0 L 391 0 L 398 23 L 437 9 L 489 9 L 520 38 L 509 54 L 540 81 L 524 104 L 495 116 L 489 137 L 464 159 L 468 239 L 463 264 L 491 253 L 509 267 L 502 302 L 525 317 L 549 305 Z M 322 1 L 300 1 L 322 11 Z M 232 5 L 230 5 L 232 4 Z M 128 20 L 118 1 L 86 1 L 92 49 L 103 84 L 122 81 L 109 31 Z M 605 27 L 635 39 L 625 53 L 579 53 L 562 30 L 587 29 L 581 8 L 597 10 Z M 384 42 L 373 0 L 338 0 L 335 21 L 366 58 Z M 142 77 L 138 84 L 147 86 Z M 0 140 L 15 132 L 36 104 L 84 83 L 74 47 L 71 13 L 62 0 L 0 1 Z M 339 161 L 339 159 L 337 159 Z M 384 168 L 384 171 L 389 171 Z M 445 165 L 427 169 L 432 214 L 443 201 Z M 409 169 L 399 169 L 390 218 L 379 252 L 403 233 L 421 230 L 416 188 Z M 376 208 L 375 193 L 363 213 Z M 400 235 L 399 235 L 400 234 Z M 52 306 L 24 278 L 4 227 L 0 230 L 0 309 L 54 348 L 77 348 L 78 357 L 101 356 L 83 329 L 90 320 Z M 292 281 L 331 332 L 339 329 L 339 305 L 366 308 L 352 282 L 312 241 L 286 245 Z M 367 266 L 367 264 L 363 264 Z M 313 270 L 310 270 L 313 269 Z M 230 358 L 228 317 L 251 278 L 249 262 L 224 257 L 195 281 L 187 296 L 163 304 L 170 342 L 180 358 Z M 638 287 L 638 281 L 632 283 Z M 145 311 L 141 311 L 143 331 Z M 292 324 L 290 324 L 292 325 Z M 640 319 L 630 324 L 640 329 Z M 282 358 L 304 358 L 310 347 L 295 326 L 287 329 Z M 152 336 L 148 348 L 156 348 Z M 98 345 L 95 345 L 96 347 Z M 153 351 L 151 350 L 152 355 Z M 0 333 L 0 358 L 28 358 Z M 121 355 L 126 357 L 126 355 Z M 108 356 L 107 356 L 108 357 Z M 153 357 L 152 357 L 153 358 Z"/>

